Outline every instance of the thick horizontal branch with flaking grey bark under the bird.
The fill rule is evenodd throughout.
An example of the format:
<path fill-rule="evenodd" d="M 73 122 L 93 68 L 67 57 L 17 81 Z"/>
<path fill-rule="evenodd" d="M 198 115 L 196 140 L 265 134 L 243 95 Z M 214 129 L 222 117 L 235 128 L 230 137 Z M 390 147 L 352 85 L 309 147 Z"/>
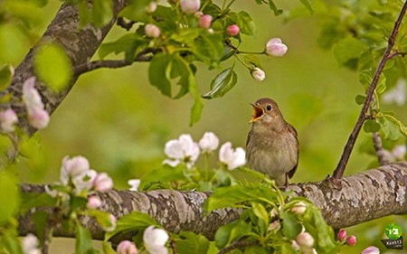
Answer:
<path fill-rule="evenodd" d="M 377 169 L 351 175 L 339 180 L 341 187 L 330 179 L 318 183 L 289 185 L 295 196 L 307 197 L 319 208 L 334 229 L 371 221 L 391 214 L 407 213 L 407 163 L 383 165 Z M 43 185 L 23 184 L 24 193 L 43 193 Z M 225 223 L 239 218 L 240 210 L 220 209 L 204 216 L 203 204 L 210 193 L 156 190 L 147 193 L 113 190 L 99 193 L 101 210 L 121 217 L 133 211 L 145 212 L 163 224 L 166 230 L 179 232 L 191 230 L 213 239 L 215 231 Z M 48 209 L 52 215 L 52 209 Z M 22 235 L 34 232 L 30 220 L 35 211 L 20 218 Z M 96 240 L 103 238 L 103 231 L 90 218 L 82 218 Z M 61 229 L 54 236 L 72 237 Z M 115 239 L 121 240 L 120 238 Z"/>

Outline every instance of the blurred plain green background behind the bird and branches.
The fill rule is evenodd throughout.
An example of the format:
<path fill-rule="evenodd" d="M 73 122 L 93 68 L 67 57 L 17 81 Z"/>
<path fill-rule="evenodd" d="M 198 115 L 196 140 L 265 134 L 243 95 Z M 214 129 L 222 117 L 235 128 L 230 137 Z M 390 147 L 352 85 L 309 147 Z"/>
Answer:
<path fill-rule="evenodd" d="M 276 1 L 289 9 L 299 1 Z M 16 66 L 41 36 L 56 14 L 59 1 L 51 1 L 35 10 L 36 24 L 22 32 L 21 24 L 0 24 L 0 63 Z M 52 183 L 58 180 L 62 157 L 84 155 L 92 168 L 108 172 L 116 188 L 128 188 L 130 178 L 139 178 L 165 159 L 166 141 L 190 133 L 197 141 L 205 131 L 213 131 L 221 142 L 245 146 L 250 129 L 250 102 L 270 97 L 279 103 L 285 118 L 298 130 L 300 156 L 297 174 L 292 182 L 320 181 L 332 174 L 347 137 L 355 125 L 360 107 L 355 96 L 363 94 L 356 72 L 338 67 L 332 52 L 318 47 L 318 21 L 307 15 L 289 23 L 284 16 L 275 17 L 266 5 L 238 1 L 234 9 L 249 12 L 257 24 L 256 37 L 244 38 L 241 51 L 262 51 L 271 37 L 280 37 L 289 46 L 281 58 L 262 57 L 266 79 L 255 81 L 247 69 L 236 64 L 238 84 L 222 99 L 204 101 L 201 120 L 189 126 L 193 99 L 168 99 L 149 85 L 147 63 L 135 63 L 120 70 L 92 71 L 80 77 L 71 93 L 52 115 L 51 124 L 33 138 L 37 146 L 21 159 L 24 182 Z M 123 33 L 115 27 L 105 42 Z M 114 57 L 114 56 L 113 56 Z M 222 63 L 228 67 L 232 61 Z M 197 80 L 204 93 L 220 71 L 208 71 L 198 65 Z M 391 107 L 407 123 L 405 108 Z M 362 133 L 355 146 L 345 174 L 355 174 L 375 164 L 375 158 L 361 147 L 369 146 L 371 137 Z M 159 175 L 157 175 L 159 177 Z M 345 247 L 343 253 L 360 253 L 369 245 L 384 251 L 380 239 L 390 222 L 407 231 L 406 216 L 391 216 L 351 227 L 348 234 L 358 238 L 356 247 Z M 50 253 L 73 252 L 70 241 L 55 241 Z M 73 246 L 73 245 L 71 245 Z M 407 245 L 404 244 L 404 249 Z M 392 253 L 387 251 L 384 253 Z M 394 251 L 393 253 L 401 253 Z"/>

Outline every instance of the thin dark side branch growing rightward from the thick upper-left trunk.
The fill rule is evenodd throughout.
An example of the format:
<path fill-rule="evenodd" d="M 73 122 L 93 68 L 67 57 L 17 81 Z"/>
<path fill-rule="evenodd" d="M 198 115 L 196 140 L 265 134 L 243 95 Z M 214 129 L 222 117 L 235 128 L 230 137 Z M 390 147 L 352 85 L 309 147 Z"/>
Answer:
<path fill-rule="evenodd" d="M 117 69 L 133 64 L 135 61 L 151 61 L 156 52 L 161 52 L 158 48 L 147 48 L 141 52 L 137 53 L 136 58 L 133 61 L 122 60 L 99 60 L 99 61 L 88 61 L 86 63 L 75 66 L 73 69 L 75 76 L 80 76 L 83 73 L 94 71 L 99 68 L 110 68 Z"/>

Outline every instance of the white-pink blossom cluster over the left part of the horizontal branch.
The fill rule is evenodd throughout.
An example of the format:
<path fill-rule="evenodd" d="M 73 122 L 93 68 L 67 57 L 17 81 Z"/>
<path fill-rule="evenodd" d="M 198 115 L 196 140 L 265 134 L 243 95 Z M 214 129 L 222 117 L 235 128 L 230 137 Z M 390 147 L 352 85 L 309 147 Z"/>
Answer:
<path fill-rule="evenodd" d="M 46 186 L 45 191 L 52 197 L 59 197 L 62 200 L 70 199 L 70 195 L 86 197 L 88 199 L 88 209 L 98 209 L 101 201 L 96 192 L 106 193 L 113 188 L 113 181 L 106 173 L 97 173 L 90 169 L 90 163 L 83 156 L 74 156 L 70 158 L 65 156 L 62 159 L 60 182 L 58 186 L 64 186 L 66 191 L 60 191 L 61 188 L 50 188 Z M 58 190 L 57 190 L 58 189 Z M 111 231 L 116 228 L 116 218 L 109 215 L 109 226 L 102 227 L 103 230 Z"/>

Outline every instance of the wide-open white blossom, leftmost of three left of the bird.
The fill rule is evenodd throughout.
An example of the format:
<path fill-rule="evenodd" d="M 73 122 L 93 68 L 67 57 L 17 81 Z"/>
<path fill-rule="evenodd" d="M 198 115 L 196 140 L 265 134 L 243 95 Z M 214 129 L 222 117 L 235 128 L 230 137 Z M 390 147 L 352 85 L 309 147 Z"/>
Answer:
<path fill-rule="evenodd" d="M 169 158 L 163 162 L 164 164 L 175 167 L 180 163 L 185 163 L 188 168 L 192 168 L 200 154 L 198 144 L 189 134 L 183 134 L 178 139 L 166 142 L 164 152 Z"/>

